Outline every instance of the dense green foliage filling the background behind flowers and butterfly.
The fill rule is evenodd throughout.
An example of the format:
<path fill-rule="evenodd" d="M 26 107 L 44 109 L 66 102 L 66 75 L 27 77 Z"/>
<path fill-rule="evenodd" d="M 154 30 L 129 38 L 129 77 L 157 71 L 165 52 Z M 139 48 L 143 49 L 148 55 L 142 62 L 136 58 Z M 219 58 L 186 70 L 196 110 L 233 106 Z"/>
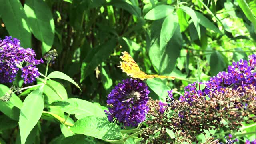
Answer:
<path fill-rule="evenodd" d="M 146 80 L 149 96 L 164 101 L 167 90 L 182 92 L 189 83 L 208 80 L 253 54 L 255 15 L 252 0 L 0 0 L 0 38 L 20 39 L 38 59 L 51 49 L 58 53 L 48 70 L 52 80 L 43 88 L 0 102 L 1 144 L 119 139 L 118 126 L 106 120 L 103 110 L 112 88 L 128 78 L 117 67 L 121 52 L 129 52 L 147 74 L 177 77 Z M 44 72 L 46 66 L 38 68 Z M 25 87 L 22 78 L 14 84 Z M 1 84 L 0 96 L 10 86 Z M 256 137 L 255 131 L 250 123 L 240 132 L 222 128 L 212 133 L 220 139 L 232 133 L 244 143 Z"/>

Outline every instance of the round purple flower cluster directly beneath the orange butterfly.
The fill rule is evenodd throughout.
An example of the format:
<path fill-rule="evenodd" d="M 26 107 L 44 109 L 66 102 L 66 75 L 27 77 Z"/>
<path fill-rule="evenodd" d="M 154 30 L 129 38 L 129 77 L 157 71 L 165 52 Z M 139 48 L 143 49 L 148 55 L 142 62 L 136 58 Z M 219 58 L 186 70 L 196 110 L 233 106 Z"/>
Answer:
<path fill-rule="evenodd" d="M 105 110 L 110 122 L 116 122 L 121 128 L 137 126 L 146 119 L 148 108 L 148 87 L 144 82 L 134 79 L 123 80 L 108 94 Z"/>

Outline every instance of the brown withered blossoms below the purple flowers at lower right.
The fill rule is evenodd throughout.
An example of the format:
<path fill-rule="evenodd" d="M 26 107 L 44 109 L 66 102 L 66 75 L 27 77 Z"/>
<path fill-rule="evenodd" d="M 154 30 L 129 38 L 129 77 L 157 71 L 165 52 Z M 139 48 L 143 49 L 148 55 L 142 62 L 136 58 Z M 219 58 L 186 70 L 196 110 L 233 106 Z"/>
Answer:
<path fill-rule="evenodd" d="M 195 96 L 190 104 L 172 99 L 163 114 L 159 112 L 159 101 L 150 100 L 147 124 L 153 128 L 141 135 L 142 143 L 198 142 L 196 136 L 205 134 L 205 131 L 223 126 L 238 131 L 242 122 L 256 122 L 255 86 L 223 88 L 222 91 L 210 92 L 209 96 L 211 98 Z M 170 138 L 166 129 L 172 131 L 174 138 Z M 207 144 L 214 142 L 218 144 L 213 138 L 206 141 Z"/>

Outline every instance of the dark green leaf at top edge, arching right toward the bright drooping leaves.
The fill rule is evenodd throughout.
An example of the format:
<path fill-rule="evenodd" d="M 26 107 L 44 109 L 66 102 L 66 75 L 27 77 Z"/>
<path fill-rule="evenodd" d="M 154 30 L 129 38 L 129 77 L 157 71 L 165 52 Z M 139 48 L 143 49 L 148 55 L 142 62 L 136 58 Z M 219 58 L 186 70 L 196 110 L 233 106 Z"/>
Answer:
<path fill-rule="evenodd" d="M 107 3 L 107 5 L 112 5 L 117 8 L 122 8 L 137 17 L 141 16 L 140 8 L 138 6 L 132 5 L 132 3 L 128 0 L 111 0 L 111 2 Z"/>

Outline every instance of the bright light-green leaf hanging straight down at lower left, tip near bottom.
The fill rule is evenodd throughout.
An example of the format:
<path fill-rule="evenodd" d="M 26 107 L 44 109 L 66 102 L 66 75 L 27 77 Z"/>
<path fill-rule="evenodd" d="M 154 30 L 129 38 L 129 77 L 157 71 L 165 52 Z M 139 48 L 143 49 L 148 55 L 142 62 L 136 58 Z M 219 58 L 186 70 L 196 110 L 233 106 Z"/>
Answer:
<path fill-rule="evenodd" d="M 26 142 L 28 135 L 40 119 L 44 109 L 43 86 L 34 90 L 24 100 L 20 110 L 20 141 Z"/>

